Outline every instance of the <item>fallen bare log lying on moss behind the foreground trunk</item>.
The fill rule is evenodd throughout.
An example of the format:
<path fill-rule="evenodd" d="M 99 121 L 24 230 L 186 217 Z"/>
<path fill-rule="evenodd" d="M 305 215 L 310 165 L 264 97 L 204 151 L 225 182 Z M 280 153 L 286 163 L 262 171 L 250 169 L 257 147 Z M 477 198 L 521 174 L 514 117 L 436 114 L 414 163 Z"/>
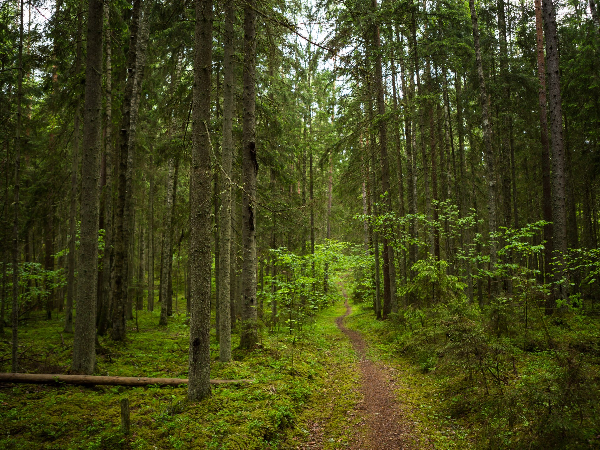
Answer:
<path fill-rule="evenodd" d="M 211 385 L 224 383 L 251 383 L 250 380 L 211 380 Z M 103 377 L 94 375 L 58 375 L 50 373 L 0 373 L 0 383 L 34 383 L 70 385 L 110 385 L 110 386 L 179 386 L 187 385 L 187 378 L 148 378 L 148 377 Z"/>

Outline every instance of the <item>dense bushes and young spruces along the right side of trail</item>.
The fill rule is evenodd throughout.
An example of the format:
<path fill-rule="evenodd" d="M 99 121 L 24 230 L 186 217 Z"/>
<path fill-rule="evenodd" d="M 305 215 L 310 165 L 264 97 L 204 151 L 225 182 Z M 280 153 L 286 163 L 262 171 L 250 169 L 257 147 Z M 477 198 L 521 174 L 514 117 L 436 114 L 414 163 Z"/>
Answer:
<path fill-rule="evenodd" d="M 407 307 L 372 320 L 384 351 L 437 380 L 446 412 L 472 426 L 476 448 L 600 448 L 596 312 L 571 305 L 546 316 L 547 290 L 517 270 L 515 294 L 480 307 L 447 266 L 416 263 L 398 290 Z"/>

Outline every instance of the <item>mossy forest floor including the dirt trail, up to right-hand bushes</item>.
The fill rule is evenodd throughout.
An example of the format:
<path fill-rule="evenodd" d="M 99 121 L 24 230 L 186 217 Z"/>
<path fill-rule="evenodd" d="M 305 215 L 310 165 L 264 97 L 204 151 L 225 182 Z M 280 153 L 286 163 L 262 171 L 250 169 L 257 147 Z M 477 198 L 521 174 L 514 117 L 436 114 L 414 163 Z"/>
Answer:
<path fill-rule="evenodd" d="M 259 348 L 235 350 L 227 364 L 217 361 L 213 335 L 212 377 L 255 382 L 214 386 L 212 397 L 197 404 L 186 403 L 185 386 L 0 384 L 0 448 L 467 448 L 465 440 L 455 445 L 448 439 L 454 431 L 440 425 L 442 409 L 430 377 L 378 349 L 369 331 L 372 311 L 355 307 L 348 316 L 350 311 L 340 297 L 298 334 L 284 326 L 265 330 Z M 96 373 L 185 377 L 189 334 L 184 317 L 173 316 L 166 328 L 157 323 L 158 311 L 140 311 L 139 327 L 128 323 L 127 341 L 101 337 Z M 68 373 L 73 336 L 62 326 L 61 316 L 22 324 L 22 371 Z M 0 339 L 1 371 L 10 370 L 6 331 Z M 234 335 L 234 345 L 238 338 Z M 130 400 L 130 436 L 119 430 L 122 397 Z"/>

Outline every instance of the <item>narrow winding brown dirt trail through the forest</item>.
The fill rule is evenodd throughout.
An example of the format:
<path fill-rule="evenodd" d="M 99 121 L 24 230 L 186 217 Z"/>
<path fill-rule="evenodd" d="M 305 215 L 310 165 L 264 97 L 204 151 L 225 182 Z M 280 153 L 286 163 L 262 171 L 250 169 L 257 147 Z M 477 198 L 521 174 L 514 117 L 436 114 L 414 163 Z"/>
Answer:
<path fill-rule="evenodd" d="M 344 305 L 346 305 L 346 314 L 337 317 L 335 323 L 350 338 L 352 346 L 361 358 L 361 391 L 364 395 L 358 411 L 364 416 L 365 427 L 362 430 L 364 437 L 355 440 L 350 448 L 352 450 L 412 449 L 412 430 L 407 424 L 407 419 L 403 418 L 393 392 L 395 380 L 389 374 L 389 370 L 367 358 L 367 344 L 361 334 L 344 326 L 344 317 L 352 313 L 347 298 Z"/>

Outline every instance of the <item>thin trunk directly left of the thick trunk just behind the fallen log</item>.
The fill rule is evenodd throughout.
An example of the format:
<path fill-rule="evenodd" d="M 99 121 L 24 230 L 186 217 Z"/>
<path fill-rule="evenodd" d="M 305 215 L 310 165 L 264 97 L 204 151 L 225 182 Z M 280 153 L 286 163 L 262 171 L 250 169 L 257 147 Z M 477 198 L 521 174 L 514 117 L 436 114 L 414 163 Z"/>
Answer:
<path fill-rule="evenodd" d="M 81 71 L 81 43 L 83 13 L 77 11 L 77 37 L 75 50 L 75 72 Z M 73 332 L 73 298 L 75 290 L 75 257 L 76 257 L 76 226 L 77 226 L 77 172 L 79 171 L 79 115 L 80 101 L 77 97 L 75 115 L 73 118 L 73 160 L 71 162 L 71 193 L 69 199 L 69 253 L 67 256 L 67 309 L 65 310 L 65 328 L 63 332 Z"/>

